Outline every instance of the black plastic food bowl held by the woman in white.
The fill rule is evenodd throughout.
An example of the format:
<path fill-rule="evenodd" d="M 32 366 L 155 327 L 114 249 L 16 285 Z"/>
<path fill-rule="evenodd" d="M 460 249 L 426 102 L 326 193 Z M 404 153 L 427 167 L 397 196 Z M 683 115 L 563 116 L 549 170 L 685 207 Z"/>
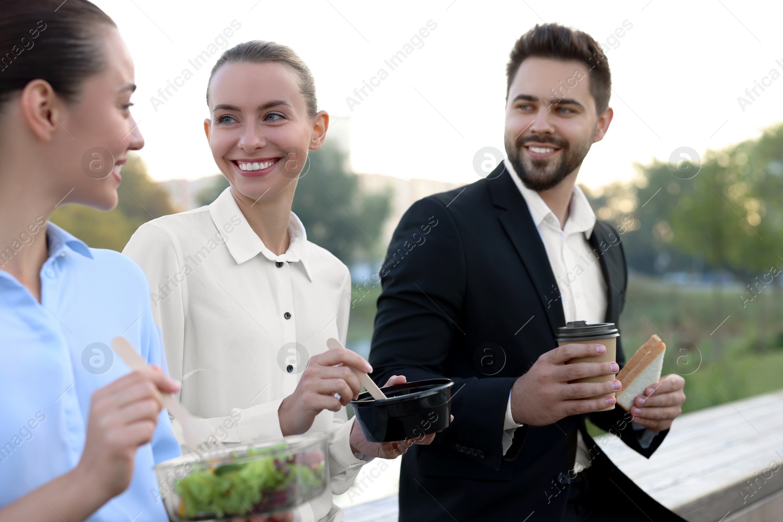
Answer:
<path fill-rule="evenodd" d="M 385 400 L 365 391 L 351 401 L 356 420 L 370 442 L 394 442 L 434 434 L 449 427 L 451 379 L 417 380 L 381 388 Z"/>

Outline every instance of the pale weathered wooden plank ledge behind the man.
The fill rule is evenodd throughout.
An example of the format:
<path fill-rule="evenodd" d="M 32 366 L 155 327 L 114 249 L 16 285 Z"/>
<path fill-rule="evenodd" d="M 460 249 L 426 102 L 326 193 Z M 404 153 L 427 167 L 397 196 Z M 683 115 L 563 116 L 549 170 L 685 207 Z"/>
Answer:
<path fill-rule="evenodd" d="M 680 416 L 650 459 L 617 437 L 596 439 L 617 466 L 690 522 L 783 520 L 783 390 Z M 396 522 L 399 459 L 364 467 L 345 522 Z"/>

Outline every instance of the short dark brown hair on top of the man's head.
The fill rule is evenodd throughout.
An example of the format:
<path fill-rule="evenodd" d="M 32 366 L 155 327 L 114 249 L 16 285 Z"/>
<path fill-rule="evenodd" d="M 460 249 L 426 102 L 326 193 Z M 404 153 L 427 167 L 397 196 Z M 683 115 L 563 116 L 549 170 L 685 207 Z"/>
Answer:
<path fill-rule="evenodd" d="M 601 114 L 609 106 L 612 74 L 609 73 L 609 63 L 601 45 L 590 34 L 557 23 L 536 23 L 536 27 L 522 34 L 514 44 L 514 49 L 511 49 L 506 66 L 506 99 L 519 66 L 531 56 L 563 61 L 574 59 L 584 63 L 589 70 L 590 94 L 595 99 L 596 113 Z"/>

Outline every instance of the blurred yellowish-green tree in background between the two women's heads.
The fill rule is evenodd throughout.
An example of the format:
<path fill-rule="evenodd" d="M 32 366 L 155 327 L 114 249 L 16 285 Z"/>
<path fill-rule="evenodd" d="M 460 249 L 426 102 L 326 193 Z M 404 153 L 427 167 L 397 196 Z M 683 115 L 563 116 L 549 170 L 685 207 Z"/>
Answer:
<path fill-rule="evenodd" d="M 67 204 L 57 208 L 50 219 L 90 247 L 121 251 L 139 225 L 179 212 L 169 201 L 168 192 L 150 179 L 146 165 L 135 153 L 128 154 L 128 163 L 122 167 L 117 194 L 117 207 L 111 211 Z"/>

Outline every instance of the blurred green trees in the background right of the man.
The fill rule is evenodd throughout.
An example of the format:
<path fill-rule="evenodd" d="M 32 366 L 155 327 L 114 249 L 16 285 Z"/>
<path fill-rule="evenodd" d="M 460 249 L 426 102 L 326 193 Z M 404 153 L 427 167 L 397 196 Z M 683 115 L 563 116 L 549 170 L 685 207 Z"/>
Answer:
<path fill-rule="evenodd" d="M 658 160 L 636 167 L 633 183 L 586 193 L 598 217 L 623 233 L 637 272 L 709 268 L 751 280 L 783 264 L 783 125 L 707 151 L 690 179 Z"/>

